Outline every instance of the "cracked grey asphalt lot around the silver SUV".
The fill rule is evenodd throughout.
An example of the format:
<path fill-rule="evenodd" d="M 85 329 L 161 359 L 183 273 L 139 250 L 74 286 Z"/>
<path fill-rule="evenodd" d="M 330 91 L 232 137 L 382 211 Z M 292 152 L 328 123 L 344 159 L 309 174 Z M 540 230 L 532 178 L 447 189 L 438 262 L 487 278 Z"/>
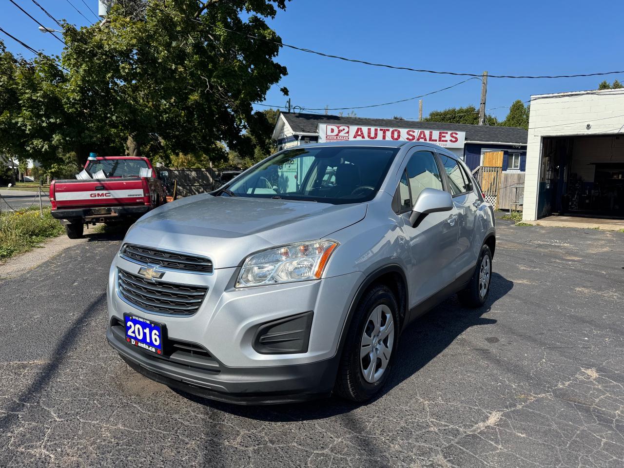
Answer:
<path fill-rule="evenodd" d="M 492 293 L 400 338 L 387 391 L 241 407 L 106 343 L 120 236 L 0 280 L 0 466 L 624 466 L 624 233 L 498 224 Z"/>

